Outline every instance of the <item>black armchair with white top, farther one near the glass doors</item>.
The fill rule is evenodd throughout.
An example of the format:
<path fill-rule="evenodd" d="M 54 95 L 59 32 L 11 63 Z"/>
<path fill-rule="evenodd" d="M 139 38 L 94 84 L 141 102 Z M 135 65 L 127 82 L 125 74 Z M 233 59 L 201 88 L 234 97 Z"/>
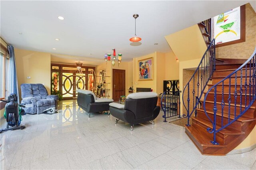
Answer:
<path fill-rule="evenodd" d="M 90 114 L 92 112 L 108 111 L 109 104 L 113 102 L 112 99 L 97 99 L 95 94 L 90 90 L 76 90 L 77 104 L 80 108 Z"/>

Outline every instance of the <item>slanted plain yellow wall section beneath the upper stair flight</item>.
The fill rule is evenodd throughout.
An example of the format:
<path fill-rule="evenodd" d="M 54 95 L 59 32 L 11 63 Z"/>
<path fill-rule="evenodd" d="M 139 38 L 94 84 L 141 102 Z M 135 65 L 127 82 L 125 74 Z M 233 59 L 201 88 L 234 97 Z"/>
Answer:
<path fill-rule="evenodd" d="M 167 35 L 165 39 L 179 61 L 201 59 L 207 49 L 197 24 Z"/>

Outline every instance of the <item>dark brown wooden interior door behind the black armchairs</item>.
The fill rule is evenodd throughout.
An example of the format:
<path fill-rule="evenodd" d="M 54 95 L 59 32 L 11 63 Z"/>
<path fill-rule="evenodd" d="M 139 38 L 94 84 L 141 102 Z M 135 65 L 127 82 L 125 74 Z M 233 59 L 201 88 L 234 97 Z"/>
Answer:
<path fill-rule="evenodd" d="M 112 99 L 118 101 L 125 96 L 125 70 L 113 69 L 113 95 Z"/>

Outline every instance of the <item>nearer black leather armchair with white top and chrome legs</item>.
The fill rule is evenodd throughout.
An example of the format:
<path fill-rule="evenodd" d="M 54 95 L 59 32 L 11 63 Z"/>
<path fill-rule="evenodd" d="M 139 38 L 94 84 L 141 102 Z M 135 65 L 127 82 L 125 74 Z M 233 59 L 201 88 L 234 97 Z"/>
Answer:
<path fill-rule="evenodd" d="M 119 120 L 128 122 L 131 124 L 130 130 L 133 131 L 133 127 L 136 124 L 146 121 L 152 121 L 154 125 L 154 119 L 160 112 L 160 106 L 156 106 L 158 95 L 154 92 L 138 92 L 129 94 L 123 104 L 110 103 L 110 114 L 116 117 L 116 123 Z"/>

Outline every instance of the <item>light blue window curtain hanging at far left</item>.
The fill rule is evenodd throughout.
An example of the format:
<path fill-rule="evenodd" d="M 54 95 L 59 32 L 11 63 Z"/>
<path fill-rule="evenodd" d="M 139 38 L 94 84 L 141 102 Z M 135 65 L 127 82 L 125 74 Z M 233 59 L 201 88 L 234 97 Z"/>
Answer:
<path fill-rule="evenodd" d="M 8 51 L 10 54 L 8 92 L 9 94 L 16 94 L 18 97 L 18 103 L 20 103 L 14 48 L 12 45 L 8 45 Z"/>

